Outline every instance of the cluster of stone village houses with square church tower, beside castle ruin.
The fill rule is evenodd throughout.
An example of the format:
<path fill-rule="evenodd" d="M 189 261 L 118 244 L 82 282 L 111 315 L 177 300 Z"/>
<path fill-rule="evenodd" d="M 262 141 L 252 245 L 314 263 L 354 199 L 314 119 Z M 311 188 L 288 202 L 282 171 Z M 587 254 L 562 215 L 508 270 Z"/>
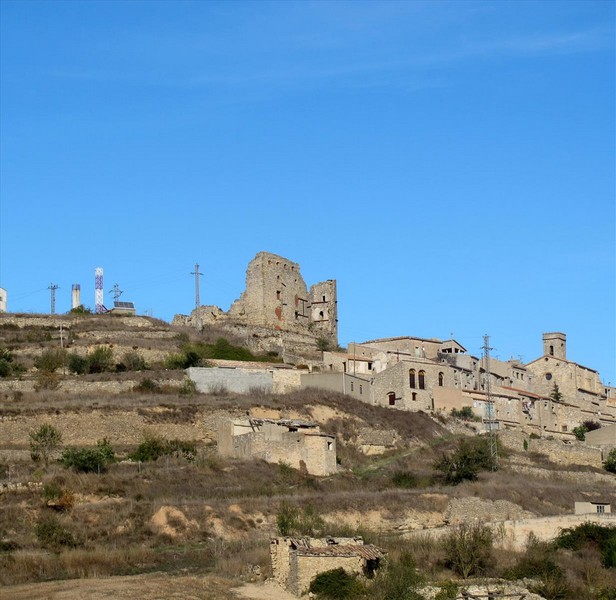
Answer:
<path fill-rule="evenodd" d="M 528 364 L 492 359 L 488 372 L 483 359 L 455 340 L 383 338 L 350 344 L 347 352 L 324 352 L 323 371 L 302 375 L 301 385 L 399 410 L 469 407 L 484 419 L 489 376 L 490 427 L 572 438 L 586 420 L 616 423 L 616 389 L 604 386 L 593 369 L 567 360 L 565 334 L 545 333 L 543 350 Z M 558 401 L 552 398 L 555 384 Z"/>

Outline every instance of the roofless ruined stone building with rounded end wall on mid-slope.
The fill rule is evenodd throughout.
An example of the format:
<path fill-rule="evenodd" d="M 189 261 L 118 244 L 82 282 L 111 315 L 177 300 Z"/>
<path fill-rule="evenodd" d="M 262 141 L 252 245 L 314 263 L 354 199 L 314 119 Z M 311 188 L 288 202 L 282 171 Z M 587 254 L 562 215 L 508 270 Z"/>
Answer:
<path fill-rule="evenodd" d="M 336 438 L 316 423 L 295 419 L 222 419 L 218 423 L 218 453 L 240 459 L 285 463 L 311 475 L 338 471 Z"/>

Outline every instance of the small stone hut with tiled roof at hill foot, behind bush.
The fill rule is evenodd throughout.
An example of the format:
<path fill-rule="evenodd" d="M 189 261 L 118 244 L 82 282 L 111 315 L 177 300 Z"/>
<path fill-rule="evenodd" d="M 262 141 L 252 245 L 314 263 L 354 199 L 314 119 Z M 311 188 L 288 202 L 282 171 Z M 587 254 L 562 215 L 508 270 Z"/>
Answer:
<path fill-rule="evenodd" d="M 305 594 L 319 574 L 343 568 L 349 574 L 372 577 L 384 553 L 361 537 L 270 539 L 270 558 L 274 579 L 296 596 Z"/>

